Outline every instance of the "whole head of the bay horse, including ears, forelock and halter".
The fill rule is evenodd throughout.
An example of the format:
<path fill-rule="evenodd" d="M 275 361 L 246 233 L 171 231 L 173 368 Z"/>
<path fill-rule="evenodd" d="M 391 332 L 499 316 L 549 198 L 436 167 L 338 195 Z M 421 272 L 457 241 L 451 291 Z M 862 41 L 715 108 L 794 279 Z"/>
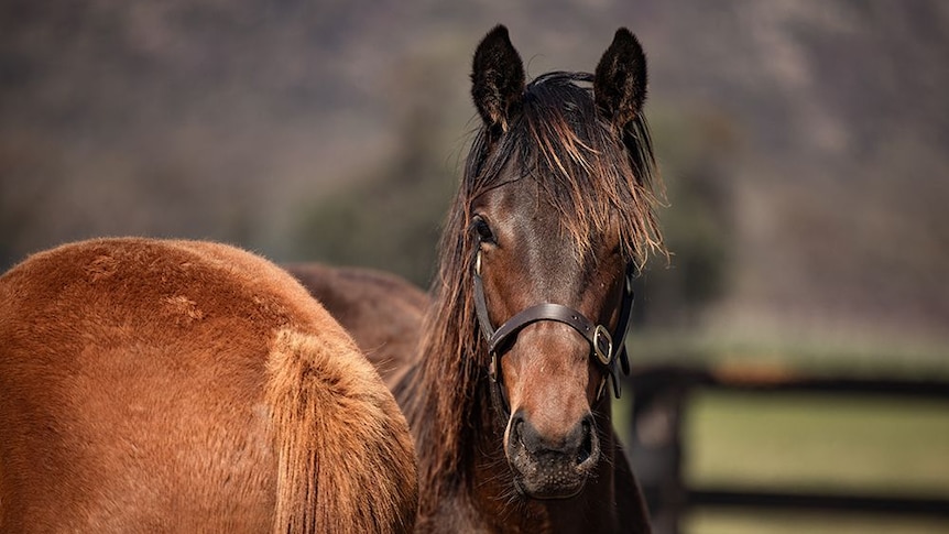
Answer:
<path fill-rule="evenodd" d="M 630 266 L 658 239 L 645 57 L 621 29 L 593 76 L 525 85 L 498 26 L 472 81 L 484 124 L 466 170 L 467 239 L 504 451 L 522 493 L 571 497 L 600 458 L 593 412 L 621 357 Z"/>

